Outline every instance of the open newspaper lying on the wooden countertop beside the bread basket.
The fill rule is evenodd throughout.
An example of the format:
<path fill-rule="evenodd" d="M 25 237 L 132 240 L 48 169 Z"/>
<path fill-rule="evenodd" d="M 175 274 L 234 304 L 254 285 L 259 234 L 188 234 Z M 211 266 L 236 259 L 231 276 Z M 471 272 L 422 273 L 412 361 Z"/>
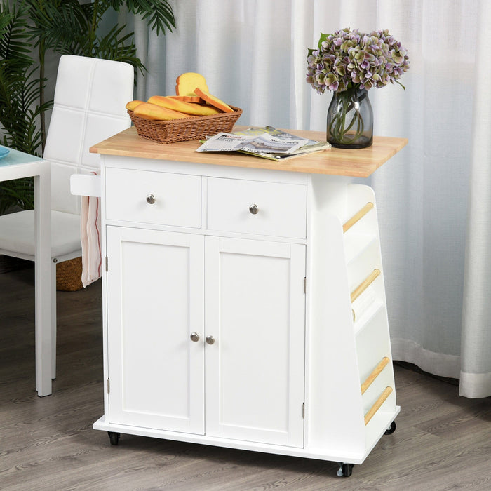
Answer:
<path fill-rule="evenodd" d="M 252 152 L 253 154 L 289 155 L 303 147 L 303 138 L 276 137 L 269 133 L 246 136 L 235 133 L 217 133 L 204 142 L 197 152 Z"/>

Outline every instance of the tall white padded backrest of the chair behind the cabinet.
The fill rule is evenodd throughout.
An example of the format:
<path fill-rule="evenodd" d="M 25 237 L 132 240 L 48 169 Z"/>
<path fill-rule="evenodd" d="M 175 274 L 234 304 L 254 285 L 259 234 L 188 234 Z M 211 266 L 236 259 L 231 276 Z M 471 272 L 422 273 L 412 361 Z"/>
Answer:
<path fill-rule="evenodd" d="M 44 158 L 51 161 L 51 209 L 80 213 L 70 175 L 99 169 L 89 148 L 130 126 L 126 102 L 133 99 L 133 67 L 128 63 L 63 55 L 56 79 Z"/>

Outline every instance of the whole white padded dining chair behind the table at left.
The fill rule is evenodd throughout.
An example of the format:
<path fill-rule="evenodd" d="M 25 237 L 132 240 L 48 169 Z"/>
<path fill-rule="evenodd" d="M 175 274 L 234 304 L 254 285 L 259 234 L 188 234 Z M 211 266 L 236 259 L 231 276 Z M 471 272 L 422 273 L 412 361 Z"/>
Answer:
<path fill-rule="evenodd" d="M 81 256 L 80 197 L 70 175 L 99 169 L 89 148 L 130 126 L 125 105 L 133 100 L 128 63 L 63 55 L 58 66 L 44 159 L 51 161 L 52 360 L 56 374 L 56 264 Z M 0 255 L 34 261 L 34 210 L 0 216 Z"/>

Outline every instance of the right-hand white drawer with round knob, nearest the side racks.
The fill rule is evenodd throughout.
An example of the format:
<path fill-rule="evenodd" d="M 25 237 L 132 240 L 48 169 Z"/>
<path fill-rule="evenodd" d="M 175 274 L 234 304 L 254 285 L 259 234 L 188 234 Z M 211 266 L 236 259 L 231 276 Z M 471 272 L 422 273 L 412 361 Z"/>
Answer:
<path fill-rule="evenodd" d="M 208 179 L 208 229 L 305 238 L 307 186 Z"/>

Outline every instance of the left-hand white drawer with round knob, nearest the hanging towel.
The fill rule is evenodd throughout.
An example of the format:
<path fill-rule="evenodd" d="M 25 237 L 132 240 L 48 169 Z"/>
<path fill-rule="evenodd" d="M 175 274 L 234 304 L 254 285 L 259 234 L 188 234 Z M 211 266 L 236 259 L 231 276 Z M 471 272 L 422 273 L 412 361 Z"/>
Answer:
<path fill-rule="evenodd" d="M 199 228 L 201 177 L 107 168 L 106 218 Z"/>

